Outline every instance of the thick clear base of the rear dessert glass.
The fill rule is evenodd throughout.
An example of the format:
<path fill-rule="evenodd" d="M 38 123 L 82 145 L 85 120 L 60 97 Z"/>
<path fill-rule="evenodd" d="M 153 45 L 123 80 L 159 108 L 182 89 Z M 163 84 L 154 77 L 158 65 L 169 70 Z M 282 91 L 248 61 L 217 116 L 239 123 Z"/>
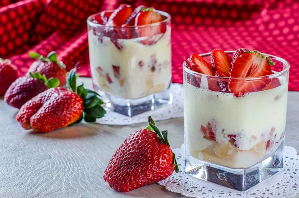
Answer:
<path fill-rule="evenodd" d="M 128 117 L 133 117 L 172 104 L 170 85 L 168 89 L 163 92 L 151 94 L 139 99 L 119 98 L 103 91 L 95 84 L 93 84 L 93 88 L 102 96 L 103 101 L 106 103 L 104 106 L 106 109 Z"/>

